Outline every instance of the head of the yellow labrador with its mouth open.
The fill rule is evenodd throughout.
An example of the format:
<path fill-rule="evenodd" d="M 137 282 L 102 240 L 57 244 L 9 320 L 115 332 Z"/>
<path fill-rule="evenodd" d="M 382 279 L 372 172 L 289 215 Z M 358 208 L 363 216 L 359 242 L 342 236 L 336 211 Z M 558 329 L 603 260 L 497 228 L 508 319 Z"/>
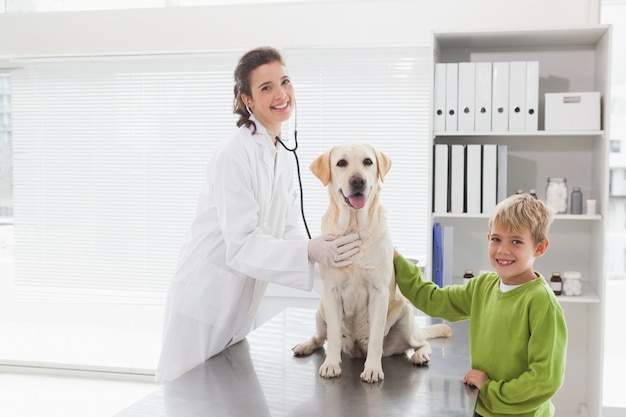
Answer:
<path fill-rule="evenodd" d="M 338 145 L 318 156 L 310 168 L 329 187 L 331 196 L 352 210 L 360 210 L 376 194 L 391 160 L 370 145 Z"/>

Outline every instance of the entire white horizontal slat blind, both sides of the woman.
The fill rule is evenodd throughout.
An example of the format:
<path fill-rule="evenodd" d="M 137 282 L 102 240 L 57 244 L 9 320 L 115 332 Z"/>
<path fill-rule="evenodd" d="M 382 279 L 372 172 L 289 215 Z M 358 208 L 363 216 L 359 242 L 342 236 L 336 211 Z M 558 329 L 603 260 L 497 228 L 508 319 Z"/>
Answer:
<path fill-rule="evenodd" d="M 283 52 L 311 233 L 328 197 L 309 164 L 366 142 L 393 160 L 382 200 L 394 243 L 425 253 L 427 48 Z M 206 163 L 235 128 L 239 56 L 27 62 L 14 73 L 17 301 L 163 302 Z"/>

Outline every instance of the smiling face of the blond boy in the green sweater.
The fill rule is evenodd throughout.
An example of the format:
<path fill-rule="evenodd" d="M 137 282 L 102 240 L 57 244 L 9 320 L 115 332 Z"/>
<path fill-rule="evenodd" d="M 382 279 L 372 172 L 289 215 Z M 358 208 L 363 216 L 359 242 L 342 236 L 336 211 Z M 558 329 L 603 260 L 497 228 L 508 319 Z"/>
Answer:
<path fill-rule="evenodd" d="M 489 261 L 503 283 L 519 285 L 536 278 L 533 265 L 548 248 L 548 239 L 536 244 L 530 231 L 514 232 L 497 222 L 487 238 Z"/>

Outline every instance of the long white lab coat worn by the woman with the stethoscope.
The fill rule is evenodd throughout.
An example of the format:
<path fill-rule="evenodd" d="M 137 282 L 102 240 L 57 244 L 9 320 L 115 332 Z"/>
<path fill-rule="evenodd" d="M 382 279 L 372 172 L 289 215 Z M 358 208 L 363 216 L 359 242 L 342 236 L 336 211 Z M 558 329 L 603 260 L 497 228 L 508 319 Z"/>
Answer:
<path fill-rule="evenodd" d="M 159 382 L 243 340 L 268 282 L 313 286 L 293 155 L 255 122 L 256 134 L 241 127 L 208 165 L 168 292 Z"/>

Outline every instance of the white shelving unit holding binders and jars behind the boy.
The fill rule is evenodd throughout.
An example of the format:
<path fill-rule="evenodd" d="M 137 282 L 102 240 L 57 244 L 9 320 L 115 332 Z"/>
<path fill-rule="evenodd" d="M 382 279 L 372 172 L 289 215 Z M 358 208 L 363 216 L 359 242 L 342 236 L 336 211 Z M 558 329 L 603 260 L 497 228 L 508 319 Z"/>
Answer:
<path fill-rule="evenodd" d="M 538 197 L 545 199 L 547 178 L 555 176 L 567 178 L 570 192 L 573 186 L 580 186 L 584 199 L 597 201 L 597 215 L 557 215 L 550 230 L 550 247 L 535 263 L 547 278 L 553 271 L 568 270 L 581 271 L 583 276 L 582 296 L 559 296 L 569 343 L 565 383 L 554 398 L 557 416 L 599 416 L 602 410 L 610 51 L 611 27 L 607 25 L 433 34 L 433 74 L 437 62 L 539 61 L 540 103 L 538 131 L 433 131 L 432 144 L 507 145 L 509 195 L 517 189 L 535 189 Z M 590 91 L 601 93 L 605 130 L 543 130 L 545 93 Z M 488 214 L 433 213 L 431 221 L 453 227 L 455 279 L 465 269 L 491 269 Z"/>

